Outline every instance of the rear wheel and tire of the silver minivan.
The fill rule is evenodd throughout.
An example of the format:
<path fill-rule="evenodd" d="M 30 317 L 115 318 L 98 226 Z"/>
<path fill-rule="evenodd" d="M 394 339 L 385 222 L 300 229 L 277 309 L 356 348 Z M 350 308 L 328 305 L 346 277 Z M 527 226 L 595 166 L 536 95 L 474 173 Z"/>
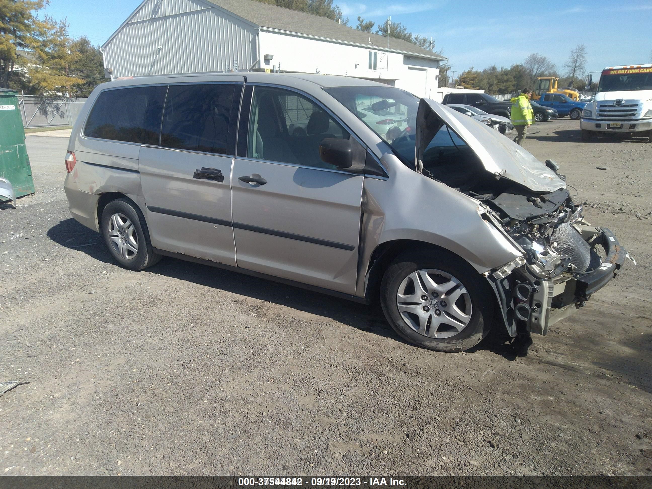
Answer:
<path fill-rule="evenodd" d="M 102 237 L 117 263 L 129 270 L 143 270 L 161 259 L 149 239 L 145 216 L 127 198 L 110 201 L 102 211 Z"/>

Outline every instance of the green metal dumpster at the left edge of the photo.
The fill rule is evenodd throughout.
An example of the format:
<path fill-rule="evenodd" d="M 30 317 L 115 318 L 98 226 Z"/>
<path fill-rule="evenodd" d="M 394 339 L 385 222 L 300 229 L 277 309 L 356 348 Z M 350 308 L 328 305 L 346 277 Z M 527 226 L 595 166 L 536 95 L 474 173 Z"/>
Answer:
<path fill-rule="evenodd" d="M 11 183 L 14 198 L 34 193 L 18 93 L 4 88 L 0 88 L 0 179 Z M 0 197 L 0 201 L 7 200 L 7 196 Z"/>

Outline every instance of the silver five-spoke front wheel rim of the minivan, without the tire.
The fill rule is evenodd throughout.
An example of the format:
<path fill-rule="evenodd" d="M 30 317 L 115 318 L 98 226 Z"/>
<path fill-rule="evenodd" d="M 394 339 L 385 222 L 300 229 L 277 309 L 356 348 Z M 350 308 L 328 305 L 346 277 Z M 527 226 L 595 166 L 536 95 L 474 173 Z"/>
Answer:
<path fill-rule="evenodd" d="M 462 282 L 436 269 L 404 278 L 396 294 L 398 312 L 414 331 L 428 338 L 450 338 L 471 321 L 471 296 Z"/>

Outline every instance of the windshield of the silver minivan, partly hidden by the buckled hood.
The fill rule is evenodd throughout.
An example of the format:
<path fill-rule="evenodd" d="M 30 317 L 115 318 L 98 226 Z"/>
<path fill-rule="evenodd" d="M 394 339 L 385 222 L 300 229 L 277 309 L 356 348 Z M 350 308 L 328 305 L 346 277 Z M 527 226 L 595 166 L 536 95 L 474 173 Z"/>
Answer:
<path fill-rule="evenodd" d="M 333 87 L 325 91 L 353 112 L 378 136 L 387 141 L 394 155 L 412 170 L 415 169 L 415 126 L 419 98 L 394 87 Z M 370 117 L 366 107 L 389 110 L 386 114 Z M 475 111 L 475 108 L 469 108 Z M 391 119 L 393 123 L 385 124 Z M 388 128 L 389 126 L 389 128 Z M 481 177 L 482 164 L 477 155 L 447 125 L 442 125 L 426 147 L 422 173 L 453 188 L 470 188 Z"/>

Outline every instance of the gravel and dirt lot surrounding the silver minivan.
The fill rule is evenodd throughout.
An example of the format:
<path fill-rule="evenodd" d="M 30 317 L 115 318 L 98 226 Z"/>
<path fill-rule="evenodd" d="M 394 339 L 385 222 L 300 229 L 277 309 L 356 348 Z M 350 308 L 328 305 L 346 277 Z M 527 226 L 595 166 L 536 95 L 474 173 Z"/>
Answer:
<path fill-rule="evenodd" d="M 527 357 L 434 353 L 373 307 L 193 263 L 117 267 L 68 214 L 67 139 L 0 206 L 0 473 L 649 474 L 652 144 L 533 126 L 630 250 Z M 597 170 L 596 167 L 607 168 Z"/>

